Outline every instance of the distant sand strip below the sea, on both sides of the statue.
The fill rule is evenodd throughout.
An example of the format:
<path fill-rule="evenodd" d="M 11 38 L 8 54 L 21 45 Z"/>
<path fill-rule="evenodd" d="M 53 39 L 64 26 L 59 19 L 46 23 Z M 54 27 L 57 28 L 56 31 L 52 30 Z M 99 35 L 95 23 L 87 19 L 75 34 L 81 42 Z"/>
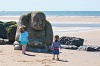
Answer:
<path fill-rule="evenodd" d="M 18 21 L 19 16 L 0 16 L 0 21 Z M 47 16 L 50 22 L 100 22 L 100 17 Z"/>

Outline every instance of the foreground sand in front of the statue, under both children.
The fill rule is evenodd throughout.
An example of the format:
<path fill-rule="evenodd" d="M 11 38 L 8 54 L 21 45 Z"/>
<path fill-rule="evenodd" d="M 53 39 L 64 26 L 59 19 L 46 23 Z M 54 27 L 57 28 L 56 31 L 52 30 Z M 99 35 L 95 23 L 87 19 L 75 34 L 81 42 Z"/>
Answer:
<path fill-rule="evenodd" d="M 51 53 L 27 52 L 23 55 L 12 45 L 0 46 L 1 66 L 100 66 L 100 52 L 60 50 L 60 61 L 52 60 Z"/>

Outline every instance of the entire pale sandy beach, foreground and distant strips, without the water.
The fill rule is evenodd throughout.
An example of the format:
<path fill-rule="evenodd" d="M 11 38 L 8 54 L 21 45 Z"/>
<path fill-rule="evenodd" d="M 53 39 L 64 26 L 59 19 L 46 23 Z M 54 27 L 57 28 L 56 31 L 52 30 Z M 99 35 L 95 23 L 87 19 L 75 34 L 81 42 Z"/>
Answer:
<path fill-rule="evenodd" d="M 0 21 L 14 20 L 19 17 L 0 17 Z M 93 22 L 100 23 L 100 17 L 47 17 L 50 22 Z M 74 27 L 73 27 L 74 28 Z M 53 31 L 68 28 L 53 28 Z M 74 28 L 77 29 L 78 27 Z M 100 28 L 83 32 L 54 32 L 54 35 L 79 37 L 85 40 L 84 45 L 100 46 Z M 60 50 L 60 61 L 53 61 L 51 53 L 26 52 L 14 50 L 12 45 L 0 45 L 0 66 L 100 66 L 100 52 L 87 52 L 78 50 Z"/>

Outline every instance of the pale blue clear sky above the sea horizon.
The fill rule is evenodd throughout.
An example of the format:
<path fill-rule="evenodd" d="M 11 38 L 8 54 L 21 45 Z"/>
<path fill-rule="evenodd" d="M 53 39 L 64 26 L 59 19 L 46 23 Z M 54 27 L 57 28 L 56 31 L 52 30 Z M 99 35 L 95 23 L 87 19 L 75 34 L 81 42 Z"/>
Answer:
<path fill-rule="evenodd" d="M 0 0 L 0 11 L 100 11 L 100 0 Z"/>

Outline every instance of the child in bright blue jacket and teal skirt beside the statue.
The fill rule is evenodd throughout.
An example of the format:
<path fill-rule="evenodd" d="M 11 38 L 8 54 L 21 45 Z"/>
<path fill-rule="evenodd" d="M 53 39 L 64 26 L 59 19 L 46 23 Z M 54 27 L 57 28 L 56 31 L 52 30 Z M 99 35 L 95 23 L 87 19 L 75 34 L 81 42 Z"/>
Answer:
<path fill-rule="evenodd" d="M 20 36 L 19 36 L 19 42 L 20 42 L 20 45 L 22 45 L 22 53 L 23 54 L 26 54 L 25 53 L 25 50 L 26 50 L 26 45 L 28 43 L 28 32 L 25 30 L 25 26 L 22 25 L 21 28 L 20 28 Z"/>

